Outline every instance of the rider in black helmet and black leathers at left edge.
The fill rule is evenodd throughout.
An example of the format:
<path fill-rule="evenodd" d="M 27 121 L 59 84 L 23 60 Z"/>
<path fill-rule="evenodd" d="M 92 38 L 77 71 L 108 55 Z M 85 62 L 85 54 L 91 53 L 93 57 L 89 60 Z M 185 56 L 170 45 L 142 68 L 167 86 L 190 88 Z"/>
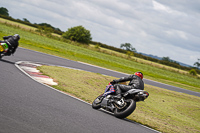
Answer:
<path fill-rule="evenodd" d="M 19 43 L 20 36 L 15 34 L 13 36 L 4 36 L 4 41 L 0 41 L 0 43 L 7 43 L 8 44 L 8 51 L 4 55 L 11 55 L 14 54 Z"/>

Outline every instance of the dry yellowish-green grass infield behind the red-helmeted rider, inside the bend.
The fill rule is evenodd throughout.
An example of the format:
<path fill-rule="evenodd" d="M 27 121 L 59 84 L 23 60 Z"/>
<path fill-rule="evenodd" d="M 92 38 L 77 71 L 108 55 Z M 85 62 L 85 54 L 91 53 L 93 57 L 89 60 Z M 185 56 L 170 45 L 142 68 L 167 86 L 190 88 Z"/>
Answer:
<path fill-rule="evenodd" d="M 104 92 L 105 86 L 115 77 L 55 66 L 38 69 L 55 79 L 61 91 L 84 101 L 92 101 Z M 78 84 L 77 84 L 78 81 Z M 145 84 L 150 93 L 145 102 L 138 102 L 128 119 L 165 133 L 200 132 L 200 98 Z"/>

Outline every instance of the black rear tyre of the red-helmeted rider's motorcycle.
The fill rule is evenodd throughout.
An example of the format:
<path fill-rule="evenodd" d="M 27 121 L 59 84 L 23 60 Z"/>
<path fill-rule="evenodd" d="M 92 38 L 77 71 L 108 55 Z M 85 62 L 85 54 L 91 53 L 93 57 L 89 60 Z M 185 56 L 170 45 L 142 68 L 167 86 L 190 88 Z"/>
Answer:
<path fill-rule="evenodd" d="M 129 116 L 136 108 L 136 102 L 133 99 L 128 99 L 125 101 L 126 102 L 126 106 L 119 109 L 116 107 L 115 111 L 114 111 L 114 116 L 117 118 L 125 118 L 127 116 Z"/>

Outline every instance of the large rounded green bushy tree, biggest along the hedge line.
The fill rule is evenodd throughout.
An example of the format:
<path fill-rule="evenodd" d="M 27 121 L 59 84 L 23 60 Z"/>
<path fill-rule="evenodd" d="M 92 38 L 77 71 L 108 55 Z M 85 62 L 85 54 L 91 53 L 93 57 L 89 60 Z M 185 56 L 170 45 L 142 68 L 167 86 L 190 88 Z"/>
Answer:
<path fill-rule="evenodd" d="M 92 40 L 90 31 L 86 30 L 83 26 L 69 28 L 62 36 L 66 39 L 85 44 L 88 44 Z"/>

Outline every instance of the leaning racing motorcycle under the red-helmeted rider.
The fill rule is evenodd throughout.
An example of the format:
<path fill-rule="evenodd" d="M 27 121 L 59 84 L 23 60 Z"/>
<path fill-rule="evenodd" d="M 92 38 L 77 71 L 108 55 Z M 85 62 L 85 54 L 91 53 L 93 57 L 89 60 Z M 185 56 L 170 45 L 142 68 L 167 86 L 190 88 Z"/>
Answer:
<path fill-rule="evenodd" d="M 99 95 L 92 103 L 93 109 L 103 108 L 114 113 L 117 118 L 129 116 L 136 108 L 136 102 L 144 101 L 149 93 L 144 90 L 131 89 L 122 93 L 122 98 L 113 98 L 114 87 L 112 84 L 106 86 L 105 92 Z"/>

